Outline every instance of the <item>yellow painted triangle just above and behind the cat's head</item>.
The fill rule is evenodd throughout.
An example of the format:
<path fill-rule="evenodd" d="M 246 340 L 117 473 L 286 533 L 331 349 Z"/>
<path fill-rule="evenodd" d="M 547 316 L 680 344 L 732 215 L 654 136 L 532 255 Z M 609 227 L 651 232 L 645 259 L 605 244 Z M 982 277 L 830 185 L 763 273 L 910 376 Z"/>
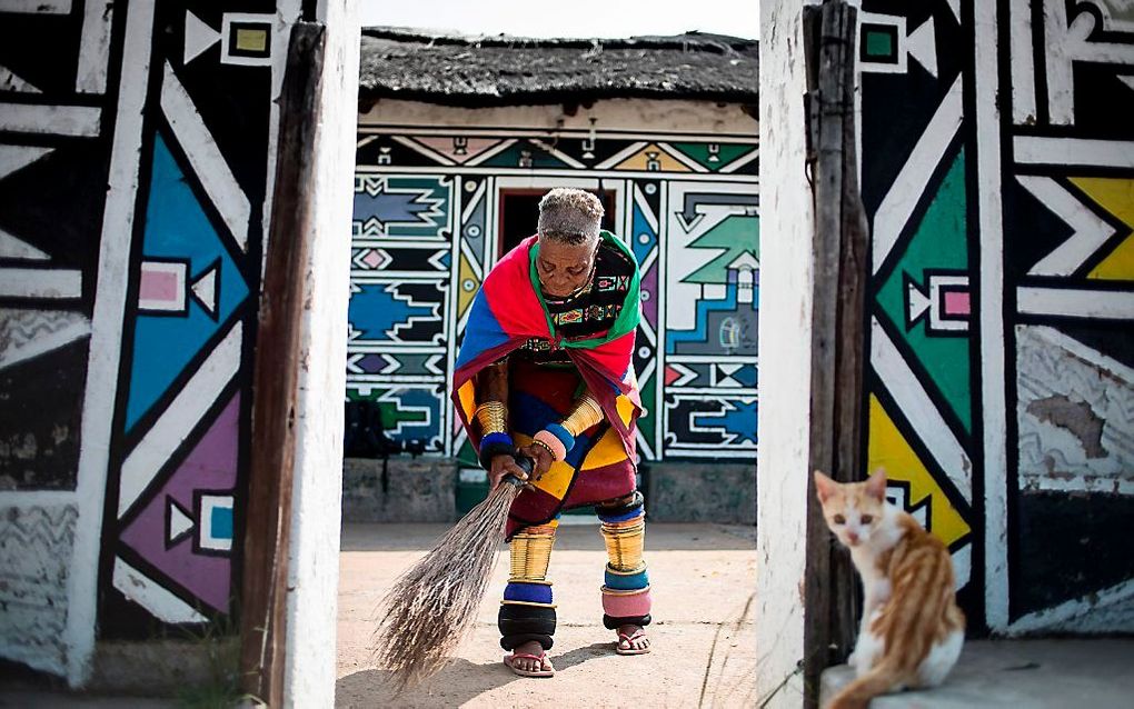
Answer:
<path fill-rule="evenodd" d="M 972 527 L 949 503 L 949 498 L 873 395 L 870 397 L 868 461 L 868 470 L 885 467 L 889 480 L 909 483 L 911 506 L 920 505 L 926 497 L 931 498 L 930 531 L 946 545 L 953 545 L 972 532 Z"/>

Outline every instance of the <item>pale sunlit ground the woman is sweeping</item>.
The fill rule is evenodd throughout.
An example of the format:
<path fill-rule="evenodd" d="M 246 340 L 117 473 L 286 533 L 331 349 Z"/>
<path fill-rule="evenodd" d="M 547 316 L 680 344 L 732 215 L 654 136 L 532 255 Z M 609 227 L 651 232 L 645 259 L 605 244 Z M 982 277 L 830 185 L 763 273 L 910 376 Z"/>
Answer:
<path fill-rule="evenodd" d="M 469 640 L 428 684 L 395 698 L 369 662 L 379 599 L 446 531 L 438 524 L 347 525 L 339 562 L 338 707 L 753 707 L 756 661 L 753 527 L 650 524 L 646 563 L 654 599 L 653 652 L 615 655 L 602 627 L 606 550 L 596 524 L 560 527 L 549 575 L 559 627 L 550 680 L 513 675 L 496 627 L 508 575 L 500 556 Z"/>

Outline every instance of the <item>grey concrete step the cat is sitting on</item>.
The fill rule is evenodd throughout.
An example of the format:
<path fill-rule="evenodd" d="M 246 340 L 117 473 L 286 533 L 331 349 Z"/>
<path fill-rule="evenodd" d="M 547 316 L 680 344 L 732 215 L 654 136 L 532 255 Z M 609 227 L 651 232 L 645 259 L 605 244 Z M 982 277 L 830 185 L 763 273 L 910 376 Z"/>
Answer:
<path fill-rule="evenodd" d="M 970 641 L 941 686 L 888 694 L 872 709 L 1129 709 L 1134 640 Z M 822 675 L 820 706 L 854 678 L 846 665 Z"/>

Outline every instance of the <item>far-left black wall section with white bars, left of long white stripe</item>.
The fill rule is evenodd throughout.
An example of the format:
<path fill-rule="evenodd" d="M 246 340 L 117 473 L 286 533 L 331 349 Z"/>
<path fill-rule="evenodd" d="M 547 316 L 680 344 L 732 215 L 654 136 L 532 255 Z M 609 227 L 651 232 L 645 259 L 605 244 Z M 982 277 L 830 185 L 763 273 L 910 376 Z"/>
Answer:
<path fill-rule="evenodd" d="M 113 17 L 84 9 L 9 2 L 0 20 L 0 656 L 56 674 L 88 512 L 78 471 L 118 83 Z"/>

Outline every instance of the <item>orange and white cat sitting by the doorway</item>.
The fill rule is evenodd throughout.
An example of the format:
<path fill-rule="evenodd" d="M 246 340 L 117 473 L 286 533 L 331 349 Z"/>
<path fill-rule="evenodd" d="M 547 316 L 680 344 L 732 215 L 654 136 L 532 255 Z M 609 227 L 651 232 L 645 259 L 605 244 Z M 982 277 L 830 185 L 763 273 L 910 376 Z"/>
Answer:
<path fill-rule="evenodd" d="M 941 684 L 965 640 L 949 550 L 886 501 L 885 471 L 854 483 L 815 471 L 815 491 L 863 584 L 862 626 L 848 659 L 857 677 L 829 709 L 866 707 L 879 694 Z"/>

